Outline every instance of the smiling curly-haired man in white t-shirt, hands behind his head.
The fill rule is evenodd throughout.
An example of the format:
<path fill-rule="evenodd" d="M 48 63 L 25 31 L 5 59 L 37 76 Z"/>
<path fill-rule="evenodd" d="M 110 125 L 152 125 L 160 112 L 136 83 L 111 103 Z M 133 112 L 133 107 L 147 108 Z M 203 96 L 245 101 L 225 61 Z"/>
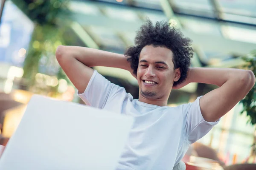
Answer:
<path fill-rule="evenodd" d="M 141 26 L 135 46 L 125 55 L 91 48 L 59 46 L 56 57 L 90 106 L 134 117 L 117 170 L 172 169 L 189 145 L 216 125 L 253 87 L 252 71 L 229 68 L 189 68 L 191 40 L 169 23 L 150 20 Z M 137 78 L 139 99 L 90 67 L 122 68 Z M 190 82 L 218 85 L 195 102 L 168 107 L 172 89 Z M 118 128 L 118 127 L 116 127 Z"/>

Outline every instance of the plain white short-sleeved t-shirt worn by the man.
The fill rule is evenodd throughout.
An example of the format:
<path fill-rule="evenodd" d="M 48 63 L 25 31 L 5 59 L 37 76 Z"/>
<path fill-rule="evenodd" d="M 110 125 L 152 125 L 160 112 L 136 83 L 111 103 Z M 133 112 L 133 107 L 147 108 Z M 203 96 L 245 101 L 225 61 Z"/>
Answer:
<path fill-rule="evenodd" d="M 204 120 L 200 97 L 177 107 L 150 105 L 133 99 L 125 88 L 111 83 L 97 71 L 79 97 L 95 108 L 134 117 L 116 170 L 172 170 L 189 145 L 206 135 L 219 121 Z"/>

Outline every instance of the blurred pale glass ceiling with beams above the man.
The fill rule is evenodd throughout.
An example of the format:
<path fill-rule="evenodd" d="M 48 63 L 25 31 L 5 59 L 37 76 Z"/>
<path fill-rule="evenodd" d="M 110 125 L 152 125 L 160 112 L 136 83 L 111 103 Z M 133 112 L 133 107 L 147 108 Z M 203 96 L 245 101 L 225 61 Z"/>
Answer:
<path fill-rule="evenodd" d="M 121 1 L 121 2 L 117 2 Z M 85 46 L 123 54 L 148 17 L 170 21 L 193 40 L 193 67 L 237 67 L 256 49 L 256 0 L 72 0 L 71 28 Z M 97 68 L 137 81 L 129 73 Z M 121 74 L 122 73 L 122 74 Z M 125 76 L 124 76 L 125 75 Z M 195 91 L 196 85 L 188 87 Z M 192 90 L 191 90 L 192 89 Z"/>

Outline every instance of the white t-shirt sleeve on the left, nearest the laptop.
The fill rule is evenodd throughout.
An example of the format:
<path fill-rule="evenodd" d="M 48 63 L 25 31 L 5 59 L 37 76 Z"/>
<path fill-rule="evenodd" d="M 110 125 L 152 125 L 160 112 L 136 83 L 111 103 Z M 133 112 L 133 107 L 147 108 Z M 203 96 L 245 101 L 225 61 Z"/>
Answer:
<path fill-rule="evenodd" d="M 94 70 L 84 93 L 79 94 L 78 92 L 77 94 L 86 105 L 102 109 L 108 100 L 121 90 L 123 88 L 111 83 Z"/>

